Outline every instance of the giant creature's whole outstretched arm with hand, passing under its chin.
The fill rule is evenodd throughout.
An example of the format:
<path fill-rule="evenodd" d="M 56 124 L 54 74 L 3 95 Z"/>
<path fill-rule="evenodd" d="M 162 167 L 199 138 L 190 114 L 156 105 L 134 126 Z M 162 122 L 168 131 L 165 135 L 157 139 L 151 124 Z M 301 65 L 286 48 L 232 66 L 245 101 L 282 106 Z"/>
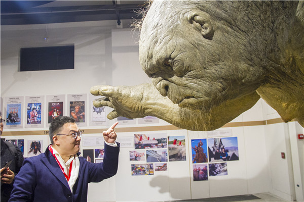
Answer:
<path fill-rule="evenodd" d="M 259 99 L 257 93 L 253 92 L 211 109 L 194 109 L 178 107 L 148 83 L 136 86 L 99 85 L 93 86 L 90 92 L 106 97 L 95 100 L 93 105 L 113 108 L 107 115 L 108 119 L 155 116 L 188 130 L 215 130 L 250 109 Z"/>

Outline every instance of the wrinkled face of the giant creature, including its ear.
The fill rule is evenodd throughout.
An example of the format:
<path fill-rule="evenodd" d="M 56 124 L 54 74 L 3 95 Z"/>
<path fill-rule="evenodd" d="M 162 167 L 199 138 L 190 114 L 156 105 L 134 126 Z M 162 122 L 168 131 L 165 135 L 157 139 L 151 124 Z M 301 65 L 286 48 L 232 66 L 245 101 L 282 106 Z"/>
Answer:
<path fill-rule="evenodd" d="M 263 71 L 251 63 L 247 35 L 198 5 L 154 2 L 141 29 L 140 62 L 174 104 L 209 108 L 259 86 Z"/>

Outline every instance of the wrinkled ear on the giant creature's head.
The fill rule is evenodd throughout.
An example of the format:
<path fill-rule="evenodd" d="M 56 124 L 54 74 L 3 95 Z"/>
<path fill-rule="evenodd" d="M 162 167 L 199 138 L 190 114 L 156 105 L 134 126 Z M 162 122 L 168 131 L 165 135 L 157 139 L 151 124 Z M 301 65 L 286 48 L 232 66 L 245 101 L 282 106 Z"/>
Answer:
<path fill-rule="evenodd" d="M 214 30 L 208 14 L 202 11 L 190 13 L 188 15 L 188 21 L 191 24 L 193 24 L 195 27 L 201 29 L 201 33 L 204 38 L 212 40 L 212 37 L 214 35 Z"/>

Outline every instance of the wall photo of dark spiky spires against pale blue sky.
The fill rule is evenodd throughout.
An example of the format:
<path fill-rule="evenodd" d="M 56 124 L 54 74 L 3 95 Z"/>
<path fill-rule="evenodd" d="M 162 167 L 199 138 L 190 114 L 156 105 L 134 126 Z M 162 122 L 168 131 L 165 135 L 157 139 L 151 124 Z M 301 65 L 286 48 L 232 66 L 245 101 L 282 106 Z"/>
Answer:
<path fill-rule="evenodd" d="M 239 160 L 238 137 L 208 138 L 209 163 Z"/>

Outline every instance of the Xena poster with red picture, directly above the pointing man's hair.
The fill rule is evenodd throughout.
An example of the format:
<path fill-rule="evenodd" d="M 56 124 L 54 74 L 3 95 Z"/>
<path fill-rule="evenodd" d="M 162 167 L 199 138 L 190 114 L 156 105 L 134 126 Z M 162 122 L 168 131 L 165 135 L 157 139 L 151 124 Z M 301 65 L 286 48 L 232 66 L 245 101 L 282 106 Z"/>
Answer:
<path fill-rule="evenodd" d="M 65 95 L 47 95 L 47 127 L 50 126 L 50 123 L 56 117 L 65 116 L 64 113 L 64 103 L 65 103 Z"/>

